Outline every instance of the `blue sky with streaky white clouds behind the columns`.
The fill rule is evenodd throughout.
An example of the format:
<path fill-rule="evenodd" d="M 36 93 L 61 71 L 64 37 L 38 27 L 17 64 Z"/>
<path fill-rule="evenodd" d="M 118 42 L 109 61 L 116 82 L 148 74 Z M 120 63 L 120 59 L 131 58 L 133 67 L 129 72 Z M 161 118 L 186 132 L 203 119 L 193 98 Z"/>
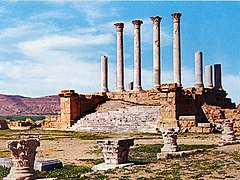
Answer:
<path fill-rule="evenodd" d="M 1 1 L 0 93 L 39 97 L 100 90 L 100 57 L 116 71 L 115 22 L 124 22 L 125 84 L 133 80 L 133 25 L 142 25 L 142 86 L 152 87 L 152 22 L 161 16 L 162 83 L 173 82 L 172 17 L 181 12 L 182 83 L 194 84 L 194 53 L 222 64 L 223 88 L 240 103 L 240 2 Z M 125 85 L 125 87 L 127 87 Z"/>

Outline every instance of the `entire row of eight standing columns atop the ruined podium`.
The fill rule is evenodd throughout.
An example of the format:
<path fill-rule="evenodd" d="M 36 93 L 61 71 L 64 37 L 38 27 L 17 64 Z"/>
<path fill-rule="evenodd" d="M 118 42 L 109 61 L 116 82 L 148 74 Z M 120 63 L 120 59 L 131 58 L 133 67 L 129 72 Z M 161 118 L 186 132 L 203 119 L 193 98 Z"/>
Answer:
<path fill-rule="evenodd" d="M 177 83 L 178 87 L 182 87 L 181 82 L 181 43 L 180 43 L 180 17 L 181 13 L 171 14 L 173 19 L 173 74 L 174 83 Z M 153 22 L 153 89 L 159 89 L 161 85 L 161 70 L 160 70 L 160 22 L 161 17 L 150 17 Z M 134 90 L 142 90 L 141 85 L 141 20 L 133 20 L 134 26 Z M 124 91 L 124 57 L 123 57 L 123 28 L 122 22 L 115 23 L 117 31 L 117 73 L 116 73 L 116 91 Z M 107 57 L 102 57 L 101 65 L 101 91 L 107 92 Z M 209 73 L 209 68 L 206 67 L 206 85 L 212 86 L 212 76 Z M 215 87 L 221 88 L 221 66 L 215 68 Z M 195 87 L 203 87 L 202 80 L 202 52 L 197 51 L 195 53 Z"/>

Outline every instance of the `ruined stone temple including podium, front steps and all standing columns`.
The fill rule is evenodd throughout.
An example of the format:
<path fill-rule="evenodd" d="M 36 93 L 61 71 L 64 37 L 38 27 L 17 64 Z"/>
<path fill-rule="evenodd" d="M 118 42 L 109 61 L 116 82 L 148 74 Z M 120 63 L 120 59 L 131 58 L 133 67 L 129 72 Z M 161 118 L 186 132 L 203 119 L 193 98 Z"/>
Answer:
<path fill-rule="evenodd" d="M 108 88 L 108 57 L 101 57 L 101 87 L 100 91 L 84 95 L 74 90 L 62 90 L 61 113 L 47 116 L 43 128 L 68 129 L 73 131 L 89 132 L 152 132 L 162 127 L 179 127 L 184 132 L 212 132 L 213 123 L 226 118 L 234 117 L 234 129 L 240 130 L 240 113 L 235 103 L 227 98 L 222 87 L 221 64 L 207 65 L 205 67 L 205 82 L 203 82 L 203 52 L 195 53 L 195 82 L 193 87 L 182 87 L 181 72 L 181 43 L 180 43 L 180 17 L 181 13 L 173 13 L 173 77 L 174 82 L 161 83 L 160 59 L 160 22 L 161 17 L 151 17 L 153 22 L 153 88 L 143 90 L 141 84 L 141 25 L 142 20 L 133 20 L 134 32 L 134 81 L 125 91 L 124 88 L 124 49 L 123 30 L 124 23 L 117 22 L 116 28 L 116 91 L 110 92 Z M 214 70 L 214 74 L 213 74 Z M 213 82 L 214 80 L 214 82 Z M 160 107 L 160 111 L 153 112 L 156 117 L 149 116 L 139 110 L 133 113 L 128 106 L 121 113 L 98 112 L 97 107 L 109 101 L 122 101 L 132 103 L 133 106 Z M 141 108 L 139 108 L 141 109 Z M 97 111 L 97 112 L 96 112 Z M 93 114 L 92 114 L 93 113 Z M 106 114 L 107 113 L 107 114 Z M 92 114 L 92 115 L 91 115 Z M 117 114 L 117 115 L 116 115 Z M 87 116 L 86 116 L 87 115 Z M 126 118 L 129 117 L 129 118 Z M 151 126 L 145 126 L 151 124 Z M 154 128 L 152 128 L 154 124 Z M 141 130 L 141 126 L 146 128 Z M 135 131 L 134 130 L 134 131 Z"/>

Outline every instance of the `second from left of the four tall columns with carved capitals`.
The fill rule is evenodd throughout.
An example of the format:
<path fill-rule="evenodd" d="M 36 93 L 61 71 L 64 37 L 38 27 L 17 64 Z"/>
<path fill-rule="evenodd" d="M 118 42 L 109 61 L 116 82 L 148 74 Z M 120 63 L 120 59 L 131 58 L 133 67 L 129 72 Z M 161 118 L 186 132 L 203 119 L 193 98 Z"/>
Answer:
<path fill-rule="evenodd" d="M 141 20 L 133 20 L 134 25 L 134 90 L 142 90 L 141 85 L 141 39 L 140 26 Z"/>

